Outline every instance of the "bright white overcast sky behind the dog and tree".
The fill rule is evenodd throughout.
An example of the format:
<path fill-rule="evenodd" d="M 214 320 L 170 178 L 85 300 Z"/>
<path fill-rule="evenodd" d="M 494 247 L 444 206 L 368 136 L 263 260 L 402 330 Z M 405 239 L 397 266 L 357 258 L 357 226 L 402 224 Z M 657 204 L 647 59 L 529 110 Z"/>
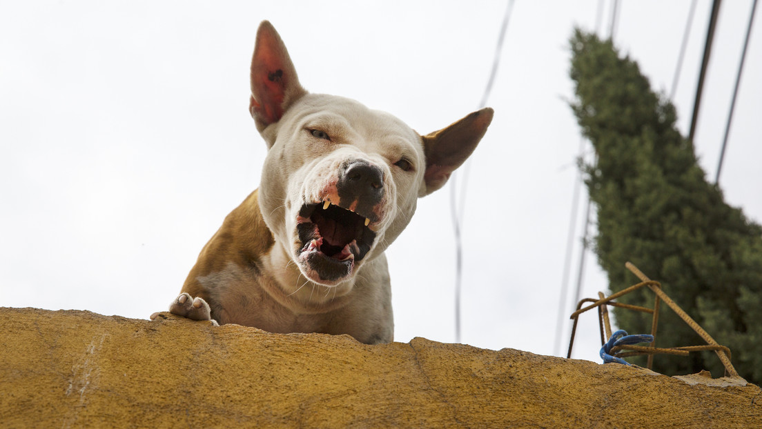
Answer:
<path fill-rule="evenodd" d="M 594 29 L 597 4 L 514 6 L 488 101 L 495 120 L 470 167 L 464 343 L 553 353 L 580 142 L 567 40 L 575 24 Z M 657 90 L 671 87 L 689 8 L 621 2 L 615 41 Z M 684 133 L 710 9 L 699 2 L 675 98 Z M 496 1 L 0 2 L 0 306 L 140 319 L 167 308 L 260 180 L 248 66 L 261 20 L 280 32 L 310 91 L 427 133 L 476 109 L 504 10 Z M 696 136 L 710 179 L 750 10 L 751 0 L 722 5 Z M 727 200 L 757 222 L 760 21 L 721 178 Z M 396 341 L 454 340 L 449 204 L 449 187 L 421 200 L 389 248 Z M 598 290 L 607 282 L 588 255 L 583 296 Z M 599 360 L 596 319 L 583 316 L 574 357 Z"/>

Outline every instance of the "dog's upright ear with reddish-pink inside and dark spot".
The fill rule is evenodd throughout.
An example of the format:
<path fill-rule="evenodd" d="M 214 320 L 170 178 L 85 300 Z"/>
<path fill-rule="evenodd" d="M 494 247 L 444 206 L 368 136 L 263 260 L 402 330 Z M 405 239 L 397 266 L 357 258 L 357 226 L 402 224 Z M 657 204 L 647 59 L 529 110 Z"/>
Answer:
<path fill-rule="evenodd" d="M 257 30 L 257 43 L 251 58 L 251 101 L 248 110 L 261 133 L 276 123 L 294 101 L 306 94 L 286 45 L 269 21 Z"/>

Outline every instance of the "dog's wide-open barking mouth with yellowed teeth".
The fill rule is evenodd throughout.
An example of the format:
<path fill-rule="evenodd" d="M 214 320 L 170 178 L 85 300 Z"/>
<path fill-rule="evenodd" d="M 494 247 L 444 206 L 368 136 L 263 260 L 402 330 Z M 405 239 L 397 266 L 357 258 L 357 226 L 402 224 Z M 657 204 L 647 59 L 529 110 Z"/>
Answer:
<path fill-rule="evenodd" d="M 334 282 L 347 277 L 376 239 L 376 233 L 368 228 L 370 219 L 328 200 L 303 205 L 296 223 L 302 242 L 296 258 L 306 261 L 321 280 Z"/>

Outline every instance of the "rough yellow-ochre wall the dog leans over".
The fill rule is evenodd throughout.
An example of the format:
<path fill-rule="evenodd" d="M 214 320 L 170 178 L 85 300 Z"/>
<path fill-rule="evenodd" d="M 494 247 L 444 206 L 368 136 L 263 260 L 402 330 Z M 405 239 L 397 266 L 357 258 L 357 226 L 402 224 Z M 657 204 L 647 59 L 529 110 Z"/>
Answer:
<path fill-rule="evenodd" d="M 762 427 L 757 386 L 415 338 L 0 309 L 0 427 Z"/>

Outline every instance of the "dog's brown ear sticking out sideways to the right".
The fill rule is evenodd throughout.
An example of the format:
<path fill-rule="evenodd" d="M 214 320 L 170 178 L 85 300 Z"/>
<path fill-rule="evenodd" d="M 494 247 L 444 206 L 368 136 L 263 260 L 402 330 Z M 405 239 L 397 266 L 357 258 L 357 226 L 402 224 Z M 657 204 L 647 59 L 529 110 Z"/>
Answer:
<path fill-rule="evenodd" d="M 443 187 L 466 158 L 476 149 L 495 113 L 490 107 L 475 111 L 467 117 L 434 133 L 421 136 L 426 154 L 426 190 L 420 197 Z"/>

